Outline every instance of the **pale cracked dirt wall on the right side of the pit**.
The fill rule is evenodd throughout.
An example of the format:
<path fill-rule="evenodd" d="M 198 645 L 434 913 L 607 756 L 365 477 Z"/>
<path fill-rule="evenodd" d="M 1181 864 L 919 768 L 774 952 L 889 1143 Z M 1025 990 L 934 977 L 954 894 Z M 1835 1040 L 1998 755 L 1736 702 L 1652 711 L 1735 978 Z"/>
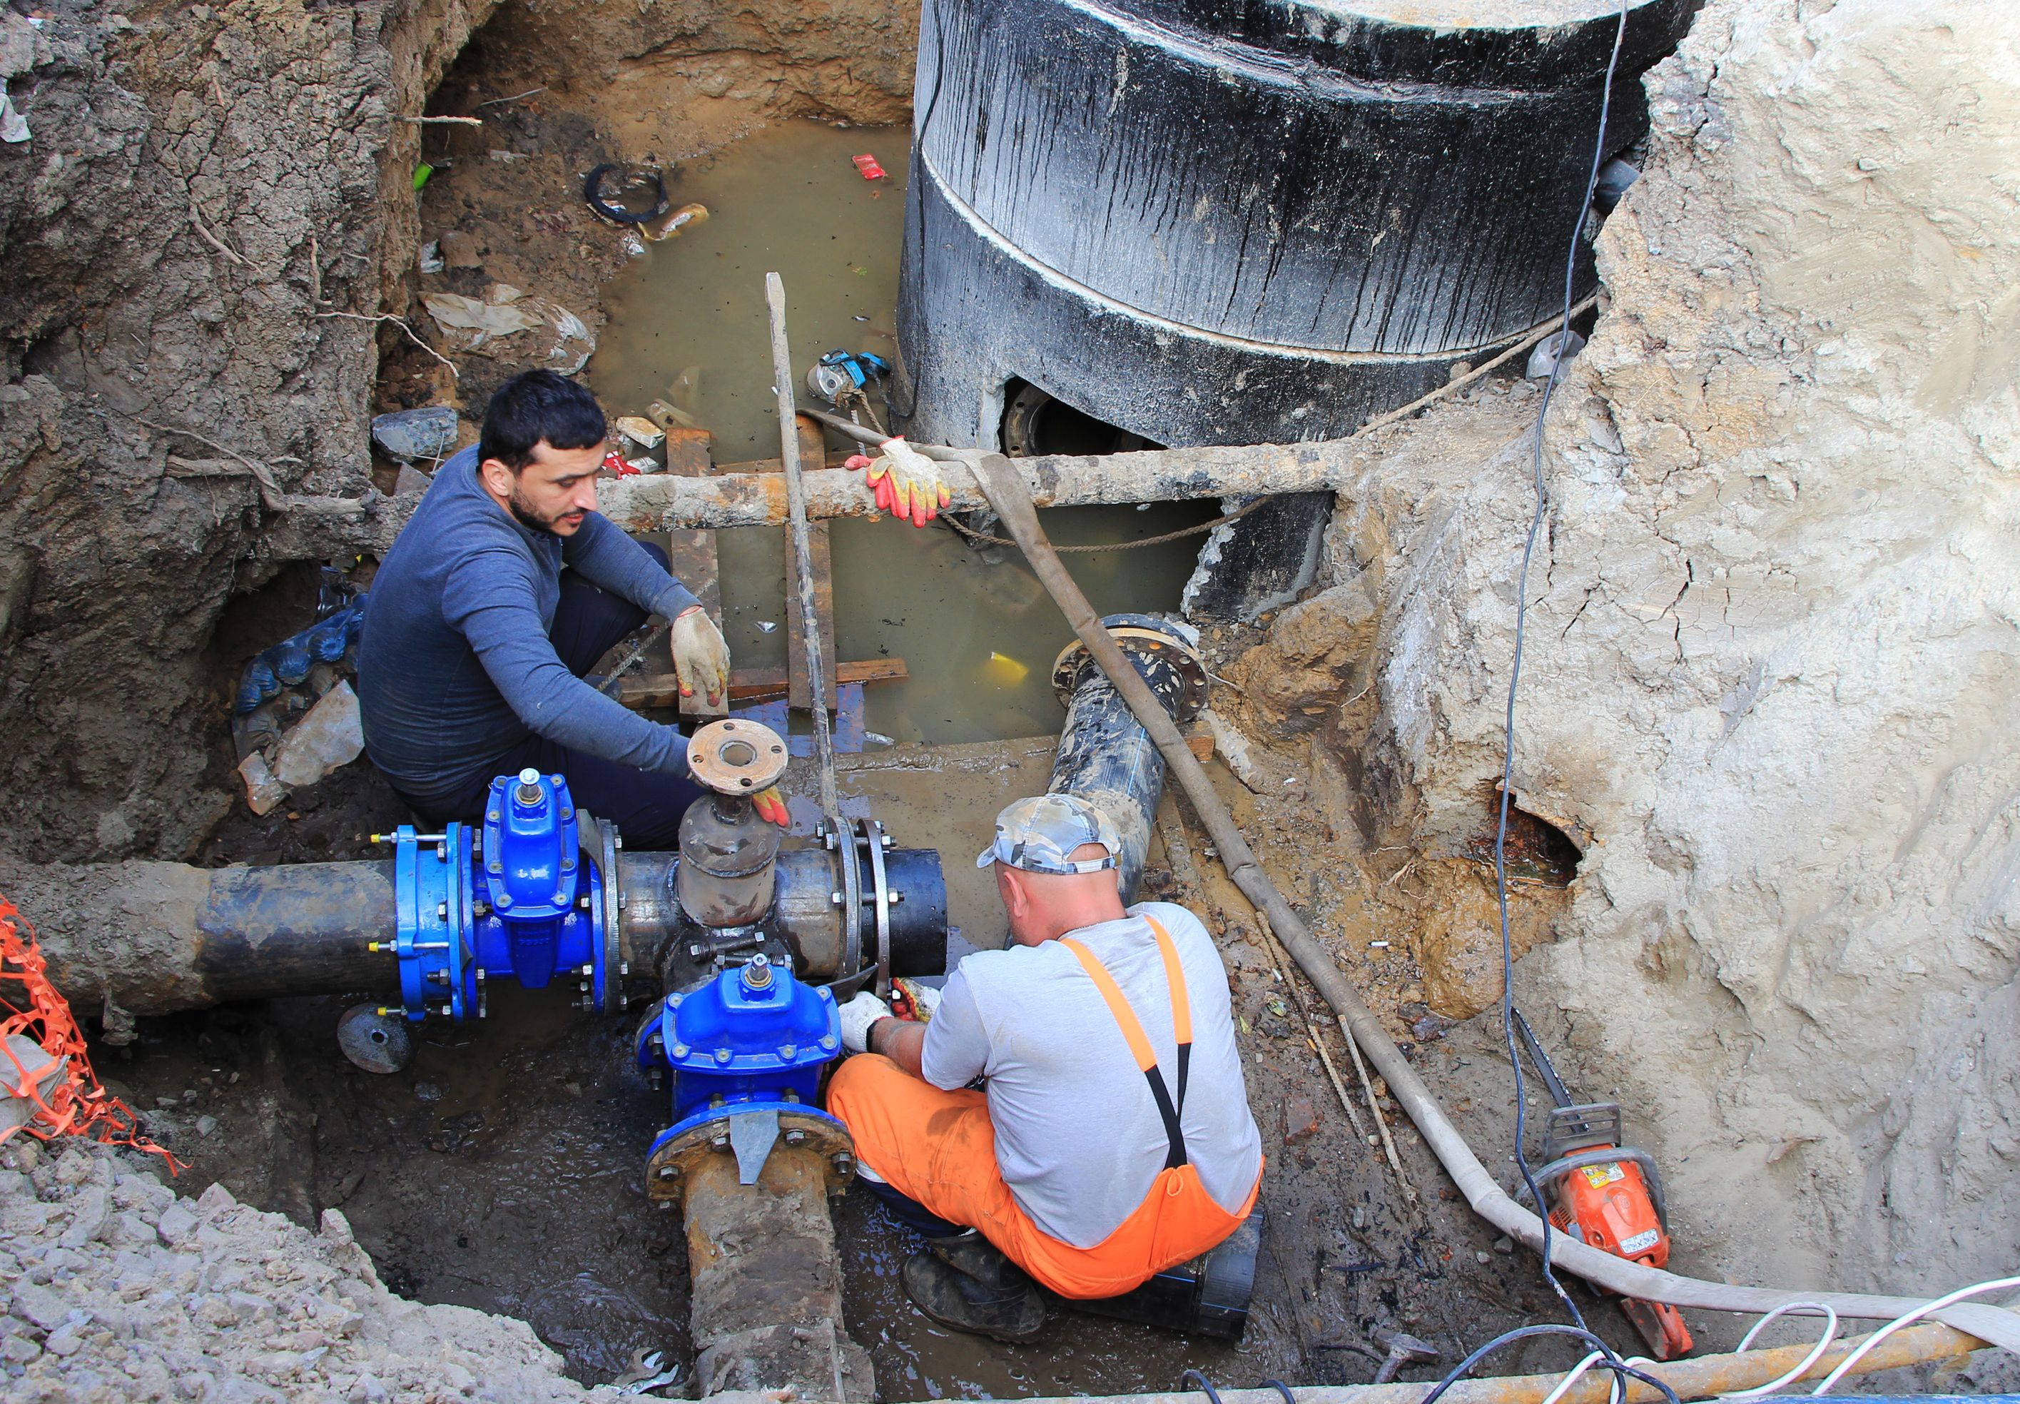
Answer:
<path fill-rule="evenodd" d="M 1990 1277 L 2020 1248 L 2020 10 L 1713 0 L 1646 87 L 1547 426 L 1517 784 L 1586 855 L 1517 992 L 1654 1125 L 1697 1263 Z M 1333 527 L 1380 616 L 1333 745 L 1432 848 L 1499 772 L 1527 418 L 1370 440 Z"/>

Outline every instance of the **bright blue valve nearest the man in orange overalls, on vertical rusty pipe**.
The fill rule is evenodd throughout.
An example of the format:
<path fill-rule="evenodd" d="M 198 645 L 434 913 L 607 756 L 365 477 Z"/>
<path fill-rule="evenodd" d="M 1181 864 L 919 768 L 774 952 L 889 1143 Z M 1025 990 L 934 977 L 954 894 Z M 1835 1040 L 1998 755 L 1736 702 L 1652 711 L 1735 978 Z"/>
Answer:
<path fill-rule="evenodd" d="M 644 1071 L 673 1073 L 673 1127 L 652 1149 L 721 1115 L 820 1113 L 820 1069 L 840 1057 L 834 994 L 782 966 L 725 970 L 691 994 L 669 994 L 638 1030 Z"/>

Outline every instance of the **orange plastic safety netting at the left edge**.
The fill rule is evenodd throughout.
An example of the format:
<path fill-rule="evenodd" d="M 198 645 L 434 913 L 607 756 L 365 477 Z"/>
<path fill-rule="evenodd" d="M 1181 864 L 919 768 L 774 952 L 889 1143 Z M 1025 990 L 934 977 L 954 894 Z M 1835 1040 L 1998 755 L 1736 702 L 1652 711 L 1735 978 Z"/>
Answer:
<path fill-rule="evenodd" d="M 69 1000 L 48 982 L 46 966 L 34 927 L 0 897 L 0 1083 L 6 1083 L 0 1099 L 14 1093 L 34 1101 L 22 1125 L 0 1129 L 0 1143 L 16 1131 L 42 1141 L 87 1135 L 105 1145 L 152 1151 L 168 1162 L 170 1174 L 180 1172 L 182 1164 L 168 1149 L 139 1133 L 133 1109 L 99 1085 L 85 1034 L 71 1016 Z M 16 1034 L 46 1057 L 24 1063 L 12 1046 Z"/>

